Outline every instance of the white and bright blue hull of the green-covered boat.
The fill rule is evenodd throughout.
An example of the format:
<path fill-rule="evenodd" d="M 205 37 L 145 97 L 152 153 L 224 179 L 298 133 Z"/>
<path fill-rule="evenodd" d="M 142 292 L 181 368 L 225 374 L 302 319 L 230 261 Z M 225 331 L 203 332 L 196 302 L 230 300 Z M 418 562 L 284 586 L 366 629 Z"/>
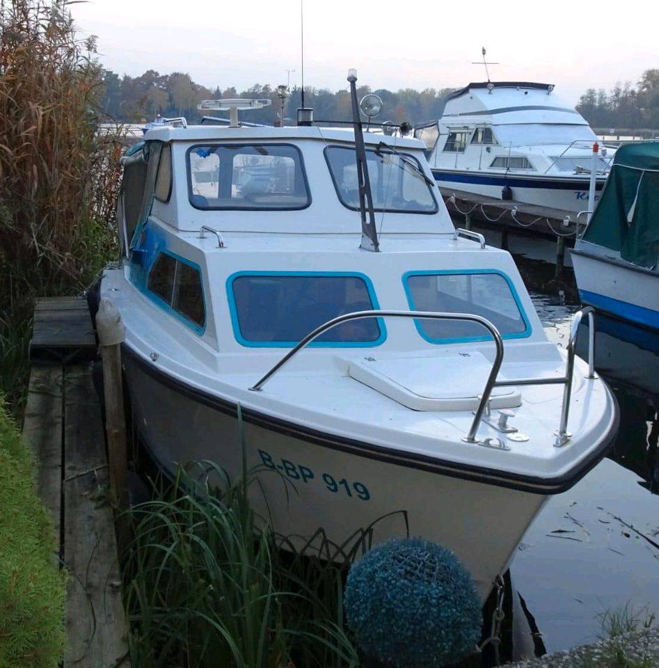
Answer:
<path fill-rule="evenodd" d="M 659 330 L 659 274 L 622 260 L 571 251 L 583 303 Z"/>

